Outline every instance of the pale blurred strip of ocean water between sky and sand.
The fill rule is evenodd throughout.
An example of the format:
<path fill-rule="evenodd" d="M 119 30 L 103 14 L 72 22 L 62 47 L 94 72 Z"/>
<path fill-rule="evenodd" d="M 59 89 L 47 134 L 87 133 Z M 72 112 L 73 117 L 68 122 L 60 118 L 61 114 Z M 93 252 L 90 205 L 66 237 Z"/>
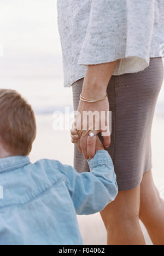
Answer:
<path fill-rule="evenodd" d="M 51 114 L 56 110 L 73 110 L 72 88 L 63 88 L 62 77 L 4 79 L 1 88 L 19 91 L 32 104 L 36 114 Z M 164 83 L 156 106 L 156 115 L 164 118 Z"/>

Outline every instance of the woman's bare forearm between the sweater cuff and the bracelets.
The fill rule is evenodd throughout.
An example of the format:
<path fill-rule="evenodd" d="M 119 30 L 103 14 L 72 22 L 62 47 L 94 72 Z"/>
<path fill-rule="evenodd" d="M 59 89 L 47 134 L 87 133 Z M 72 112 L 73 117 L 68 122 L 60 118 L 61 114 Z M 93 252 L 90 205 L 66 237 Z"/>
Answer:
<path fill-rule="evenodd" d="M 84 79 L 82 95 L 91 99 L 106 96 L 108 83 L 118 61 L 89 65 Z"/>

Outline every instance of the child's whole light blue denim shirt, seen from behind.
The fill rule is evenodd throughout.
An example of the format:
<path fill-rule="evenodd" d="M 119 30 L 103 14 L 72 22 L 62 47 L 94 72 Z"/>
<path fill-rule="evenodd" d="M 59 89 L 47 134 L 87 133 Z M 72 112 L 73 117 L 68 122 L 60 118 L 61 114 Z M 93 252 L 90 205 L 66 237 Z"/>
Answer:
<path fill-rule="evenodd" d="M 89 166 L 77 173 L 55 160 L 0 159 L 0 245 L 82 245 L 76 214 L 99 212 L 118 193 L 105 150 Z"/>

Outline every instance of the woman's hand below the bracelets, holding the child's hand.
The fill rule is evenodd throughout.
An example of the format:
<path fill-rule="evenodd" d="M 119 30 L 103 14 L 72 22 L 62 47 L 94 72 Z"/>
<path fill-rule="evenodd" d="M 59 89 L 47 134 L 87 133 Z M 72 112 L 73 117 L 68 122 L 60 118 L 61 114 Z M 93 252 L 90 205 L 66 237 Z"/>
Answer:
<path fill-rule="evenodd" d="M 109 102 L 108 98 L 103 101 L 89 103 L 80 101 L 78 115 L 75 119 L 74 130 L 78 135 L 77 146 L 85 159 L 91 159 L 96 153 L 97 135 L 102 132 L 104 147 L 110 145 L 109 132 Z M 90 137 L 90 132 L 95 136 Z"/>

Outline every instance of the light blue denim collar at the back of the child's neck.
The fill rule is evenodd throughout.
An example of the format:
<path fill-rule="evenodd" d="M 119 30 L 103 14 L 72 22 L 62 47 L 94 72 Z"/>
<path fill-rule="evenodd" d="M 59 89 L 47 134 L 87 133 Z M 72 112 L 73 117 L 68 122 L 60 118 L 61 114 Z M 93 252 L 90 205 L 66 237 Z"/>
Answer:
<path fill-rule="evenodd" d="M 30 164 L 28 156 L 10 156 L 0 159 L 0 173 L 12 171 Z"/>

